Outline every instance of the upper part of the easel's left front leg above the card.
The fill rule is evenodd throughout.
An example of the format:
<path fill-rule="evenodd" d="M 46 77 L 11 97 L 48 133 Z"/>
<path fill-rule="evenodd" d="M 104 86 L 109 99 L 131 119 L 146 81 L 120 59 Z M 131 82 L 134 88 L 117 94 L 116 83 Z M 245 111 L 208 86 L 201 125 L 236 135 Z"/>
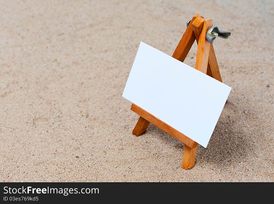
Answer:
<path fill-rule="evenodd" d="M 182 39 L 178 43 L 172 55 L 173 58 L 180 60 L 181 62 L 185 60 L 189 50 L 191 49 L 192 44 L 195 41 L 195 35 L 193 33 L 191 25 L 197 17 L 202 17 L 202 16 L 198 13 L 195 16 L 193 16 L 193 18 L 191 19 L 190 23 L 187 26 L 187 30 L 183 34 Z"/>

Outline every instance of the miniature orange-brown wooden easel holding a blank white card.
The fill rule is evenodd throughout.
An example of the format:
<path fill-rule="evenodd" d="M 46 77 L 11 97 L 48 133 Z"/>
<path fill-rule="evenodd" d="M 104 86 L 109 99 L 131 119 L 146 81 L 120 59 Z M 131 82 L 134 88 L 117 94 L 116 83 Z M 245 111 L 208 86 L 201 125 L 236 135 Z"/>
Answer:
<path fill-rule="evenodd" d="M 205 38 L 206 32 L 210 27 L 212 27 L 211 19 L 205 20 L 203 16 L 199 14 L 193 16 L 172 57 L 183 62 L 196 39 L 198 49 L 195 69 L 222 82 L 213 45 Z M 154 124 L 185 144 L 182 167 L 184 169 L 191 169 L 194 166 L 198 145 L 197 142 L 135 104 L 131 105 L 131 110 L 140 115 L 140 118 L 132 131 L 135 136 L 143 134 L 148 128 L 149 123 Z"/>

